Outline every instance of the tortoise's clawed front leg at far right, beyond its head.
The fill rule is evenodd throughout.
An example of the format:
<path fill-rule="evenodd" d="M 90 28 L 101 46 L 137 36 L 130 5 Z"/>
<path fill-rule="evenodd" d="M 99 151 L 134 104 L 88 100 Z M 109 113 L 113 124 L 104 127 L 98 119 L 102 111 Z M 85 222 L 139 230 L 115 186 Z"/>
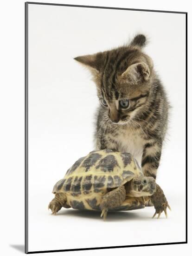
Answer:
<path fill-rule="evenodd" d="M 155 208 L 154 216 L 158 214 L 159 219 L 161 213 L 164 211 L 165 216 L 167 218 L 166 208 L 168 207 L 171 210 L 171 207 L 169 206 L 166 200 L 166 196 L 164 195 L 163 190 L 160 188 L 158 184 L 156 185 L 156 192 L 153 195 L 151 195 L 151 202 L 154 204 Z"/>

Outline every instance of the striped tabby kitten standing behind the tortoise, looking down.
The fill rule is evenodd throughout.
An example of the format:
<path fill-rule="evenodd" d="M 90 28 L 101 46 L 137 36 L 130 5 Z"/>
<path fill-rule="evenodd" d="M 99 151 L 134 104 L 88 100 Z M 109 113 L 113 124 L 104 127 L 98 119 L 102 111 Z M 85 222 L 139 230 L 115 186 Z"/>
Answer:
<path fill-rule="evenodd" d="M 129 45 L 75 58 L 90 68 L 101 106 L 96 148 L 131 153 L 143 173 L 156 179 L 169 104 L 152 59 L 142 52 L 146 37 Z"/>

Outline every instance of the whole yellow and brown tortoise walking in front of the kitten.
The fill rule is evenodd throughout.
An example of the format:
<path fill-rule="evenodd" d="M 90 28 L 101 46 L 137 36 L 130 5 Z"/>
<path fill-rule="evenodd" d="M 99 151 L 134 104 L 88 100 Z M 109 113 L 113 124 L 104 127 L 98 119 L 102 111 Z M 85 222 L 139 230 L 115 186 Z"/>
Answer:
<path fill-rule="evenodd" d="M 153 177 L 144 176 L 129 153 L 112 149 L 94 150 L 79 158 L 59 180 L 52 191 L 55 194 L 48 209 L 52 214 L 62 208 L 102 211 L 105 220 L 108 211 L 142 209 L 151 200 L 155 214 L 170 206 Z M 154 217 L 153 216 L 153 217 Z"/>

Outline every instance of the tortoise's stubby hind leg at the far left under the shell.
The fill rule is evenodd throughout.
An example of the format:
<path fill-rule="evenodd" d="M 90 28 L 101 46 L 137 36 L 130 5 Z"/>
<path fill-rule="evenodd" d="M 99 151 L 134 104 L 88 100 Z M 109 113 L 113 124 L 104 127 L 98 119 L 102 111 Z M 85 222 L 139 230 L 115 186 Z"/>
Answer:
<path fill-rule="evenodd" d="M 56 215 L 56 213 L 62 208 L 70 208 L 68 204 L 66 204 L 67 198 L 64 193 L 57 193 L 53 200 L 49 203 L 48 209 L 51 209 L 52 214 Z"/>

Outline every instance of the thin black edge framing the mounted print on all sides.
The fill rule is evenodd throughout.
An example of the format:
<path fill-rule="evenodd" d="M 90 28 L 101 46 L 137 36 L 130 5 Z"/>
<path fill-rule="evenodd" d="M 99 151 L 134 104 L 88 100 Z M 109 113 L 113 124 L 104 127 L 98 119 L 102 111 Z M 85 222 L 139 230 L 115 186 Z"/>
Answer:
<path fill-rule="evenodd" d="M 80 248 L 80 249 L 28 251 L 28 6 L 29 6 L 29 4 L 53 5 L 53 6 L 64 6 L 64 7 L 115 9 L 115 10 L 158 12 L 158 13 L 178 13 L 178 14 L 186 15 L 186 241 L 175 242 L 175 243 L 174 242 L 173 243 L 153 243 L 153 244 L 135 244 L 135 245 L 125 245 L 125 246 L 123 245 L 123 246 L 109 246 L 109 247 Z M 169 245 L 169 244 L 182 244 L 182 243 L 187 243 L 187 12 L 146 10 L 146 9 L 129 9 L 129 8 L 118 8 L 118 7 L 68 5 L 68 4 L 40 3 L 40 2 L 25 2 L 25 253 L 32 254 L 32 253 L 92 250 L 92 249 L 113 249 L 113 248 Z"/>

